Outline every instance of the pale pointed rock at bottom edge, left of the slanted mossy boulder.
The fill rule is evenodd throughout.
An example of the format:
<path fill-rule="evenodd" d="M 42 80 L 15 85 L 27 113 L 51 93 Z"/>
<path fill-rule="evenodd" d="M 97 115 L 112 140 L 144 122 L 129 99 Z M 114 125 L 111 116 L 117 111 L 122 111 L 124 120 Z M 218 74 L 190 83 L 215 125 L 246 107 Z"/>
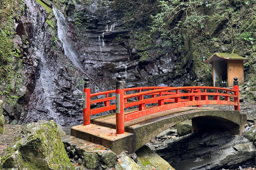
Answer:
<path fill-rule="evenodd" d="M 114 166 L 114 170 L 142 170 L 141 167 L 127 155 L 121 155 L 120 162 Z"/>

